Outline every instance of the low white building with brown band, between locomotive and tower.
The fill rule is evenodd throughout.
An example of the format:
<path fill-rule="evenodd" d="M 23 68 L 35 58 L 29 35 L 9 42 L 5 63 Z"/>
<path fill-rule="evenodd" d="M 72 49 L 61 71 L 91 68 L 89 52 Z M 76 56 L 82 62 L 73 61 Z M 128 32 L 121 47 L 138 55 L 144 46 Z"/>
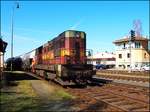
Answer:
<path fill-rule="evenodd" d="M 115 66 L 115 54 L 112 52 L 98 52 L 93 56 L 87 57 L 88 64 L 104 64 L 114 67 Z"/>

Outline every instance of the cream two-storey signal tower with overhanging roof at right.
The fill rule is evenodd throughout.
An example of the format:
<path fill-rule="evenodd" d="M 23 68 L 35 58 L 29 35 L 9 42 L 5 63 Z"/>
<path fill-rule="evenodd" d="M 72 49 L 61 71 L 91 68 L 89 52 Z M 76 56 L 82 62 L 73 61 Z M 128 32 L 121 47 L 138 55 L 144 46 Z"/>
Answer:
<path fill-rule="evenodd" d="M 128 70 L 131 67 L 141 67 L 150 63 L 150 39 L 145 37 L 130 37 L 115 40 L 116 68 Z M 130 47 L 131 46 L 131 47 Z"/>

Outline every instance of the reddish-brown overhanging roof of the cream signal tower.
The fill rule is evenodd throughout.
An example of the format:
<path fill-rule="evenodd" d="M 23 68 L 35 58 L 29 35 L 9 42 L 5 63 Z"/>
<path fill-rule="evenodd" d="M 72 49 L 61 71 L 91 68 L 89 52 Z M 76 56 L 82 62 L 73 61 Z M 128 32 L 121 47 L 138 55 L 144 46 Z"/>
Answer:
<path fill-rule="evenodd" d="M 148 41 L 148 38 L 144 38 L 144 37 L 135 37 L 134 41 Z M 119 39 L 119 40 L 115 40 L 113 43 L 114 44 L 118 44 L 118 43 L 122 43 L 122 42 L 129 42 L 130 38 L 129 37 L 125 37 L 123 39 Z"/>

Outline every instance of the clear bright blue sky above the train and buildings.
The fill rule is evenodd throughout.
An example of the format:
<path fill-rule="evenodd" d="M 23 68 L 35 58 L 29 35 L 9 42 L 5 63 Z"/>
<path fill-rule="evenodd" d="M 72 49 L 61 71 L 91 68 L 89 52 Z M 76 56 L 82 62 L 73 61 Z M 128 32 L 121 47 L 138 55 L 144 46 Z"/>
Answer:
<path fill-rule="evenodd" d="M 1 36 L 8 42 L 5 59 L 11 57 L 12 7 L 1 1 Z M 29 52 L 65 30 L 87 34 L 87 49 L 115 52 L 112 43 L 129 35 L 140 20 L 141 34 L 149 37 L 149 1 L 19 1 L 14 10 L 14 56 Z"/>

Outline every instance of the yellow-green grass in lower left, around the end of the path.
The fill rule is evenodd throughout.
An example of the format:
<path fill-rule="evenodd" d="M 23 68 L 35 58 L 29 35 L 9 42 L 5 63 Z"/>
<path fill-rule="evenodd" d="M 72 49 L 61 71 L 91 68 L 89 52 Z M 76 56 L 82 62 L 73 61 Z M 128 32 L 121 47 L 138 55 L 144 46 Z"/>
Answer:
<path fill-rule="evenodd" d="M 52 89 L 50 96 L 41 99 L 33 90 L 29 80 L 10 81 L 9 86 L 1 89 L 0 110 L 1 112 L 37 112 L 70 108 L 66 102 L 74 99 L 74 96 L 62 88 L 52 86 L 46 89 Z"/>

